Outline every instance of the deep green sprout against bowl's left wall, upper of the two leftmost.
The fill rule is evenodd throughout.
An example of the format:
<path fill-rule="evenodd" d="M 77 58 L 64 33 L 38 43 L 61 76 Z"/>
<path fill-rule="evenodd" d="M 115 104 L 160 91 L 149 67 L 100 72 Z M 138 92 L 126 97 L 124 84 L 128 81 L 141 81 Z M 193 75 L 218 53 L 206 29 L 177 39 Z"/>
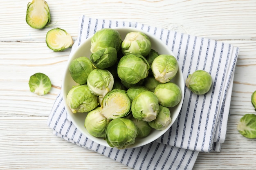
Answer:
<path fill-rule="evenodd" d="M 88 75 L 94 70 L 92 62 L 87 57 L 78 57 L 68 67 L 72 79 L 78 84 L 86 84 Z"/>

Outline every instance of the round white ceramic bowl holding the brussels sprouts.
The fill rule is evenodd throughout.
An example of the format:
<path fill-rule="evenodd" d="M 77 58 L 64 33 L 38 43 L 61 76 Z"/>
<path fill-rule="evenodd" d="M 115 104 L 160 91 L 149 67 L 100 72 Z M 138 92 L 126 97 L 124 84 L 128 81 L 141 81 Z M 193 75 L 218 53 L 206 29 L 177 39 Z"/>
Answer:
<path fill-rule="evenodd" d="M 132 32 L 132 31 L 140 31 L 142 33 L 145 33 L 150 38 L 150 41 L 152 44 L 151 49 L 154 49 L 159 54 L 173 55 L 172 51 L 168 48 L 168 46 L 166 46 L 166 44 L 164 44 L 161 40 L 159 40 L 154 35 L 152 35 L 148 32 L 145 32 L 145 31 L 142 31 L 139 29 L 135 29 L 135 28 L 130 28 L 130 27 L 117 27 L 117 28 L 113 28 L 113 29 L 116 29 L 121 34 L 122 40 L 124 40 L 124 37 L 127 33 Z M 88 131 L 86 130 L 86 128 L 84 126 L 84 121 L 85 121 L 85 117 L 86 117 L 87 113 L 76 113 L 76 114 L 72 113 L 72 111 L 70 110 L 70 108 L 66 102 L 67 93 L 70 91 L 72 86 L 77 85 L 76 82 L 74 82 L 72 77 L 70 76 L 68 67 L 70 65 L 70 62 L 72 60 L 74 60 L 75 58 L 82 57 L 82 56 L 90 58 L 90 54 L 91 54 L 90 39 L 91 39 L 91 37 L 89 37 L 83 43 L 81 43 L 81 45 L 76 49 L 76 51 L 74 51 L 73 55 L 70 56 L 70 58 L 67 62 L 67 67 L 65 68 L 63 84 L 62 84 L 63 101 L 65 103 L 65 108 L 67 110 L 68 117 L 71 119 L 72 123 L 76 126 L 76 128 L 79 131 L 81 131 L 84 135 L 86 135 L 86 137 L 88 137 L 92 141 L 97 142 L 98 144 L 101 144 L 103 146 L 110 147 L 108 145 L 108 143 L 106 142 L 106 140 L 104 140 L 103 138 L 93 137 L 92 135 L 90 135 L 88 133 Z M 184 79 L 183 79 L 182 71 L 180 68 L 178 69 L 177 75 L 172 79 L 172 82 L 175 82 L 181 88 L 182 99 L 177 106 L 170 108 L 171 119 L 172 119 L 171 124 L 164 130 L 152 130 L 152 132 L 150 133 L 150 135 L 148 135 L 148 137 L 141 138 L 141 139 L 137 138 L 135 140 L 135 144 L 132 144 L 132 145 L 128 146 L 127 148 L 136 148 L 139 146 L 144 146 L 146 144 L 149 144 L 150 142 L 154 141 L 155 139 L 161 137 L 161 135 L 163 135 L 164 132 L 166 132 L 172 126 L 173 122 L 175 121 L 175 119 L 177 118 L 177 116 L 180 113 L 183 99 L 184 99 Z M 166 94 L 166 95 L 168 95 L 168 94 Z"/>

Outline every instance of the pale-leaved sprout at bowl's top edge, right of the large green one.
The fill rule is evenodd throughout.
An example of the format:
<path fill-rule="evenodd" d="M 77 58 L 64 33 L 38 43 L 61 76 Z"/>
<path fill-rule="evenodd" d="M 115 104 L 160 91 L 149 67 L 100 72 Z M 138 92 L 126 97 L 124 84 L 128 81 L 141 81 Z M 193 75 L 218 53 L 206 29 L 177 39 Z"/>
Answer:
<path fill-rule="evenodd" d="M 146 56 L 151 50 L 151 42 L 144 33 L 130 32 L 126 34 L 121 49 L 124 54 L 137 53 Z"/>

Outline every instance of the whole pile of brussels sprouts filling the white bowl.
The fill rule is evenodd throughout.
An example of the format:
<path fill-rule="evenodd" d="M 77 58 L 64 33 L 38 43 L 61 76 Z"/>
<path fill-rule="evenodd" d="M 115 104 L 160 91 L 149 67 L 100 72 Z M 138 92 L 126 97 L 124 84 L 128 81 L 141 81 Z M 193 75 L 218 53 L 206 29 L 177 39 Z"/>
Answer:
<path fill-rule="evenodd" d="M 85 128 L 111 147 L 126 148 L 152 129 L 171 123 L 171 107 L 182 99 L 171 82 L 178 71 L 172 55 L 151 49 L 148 36 L 129 32 L 124 40 L 115 29 L 101 29 L 91 38 L 91 55 L 70 62 L 78 84 L 67 94 L 73 113 L 85 113 Z"/>

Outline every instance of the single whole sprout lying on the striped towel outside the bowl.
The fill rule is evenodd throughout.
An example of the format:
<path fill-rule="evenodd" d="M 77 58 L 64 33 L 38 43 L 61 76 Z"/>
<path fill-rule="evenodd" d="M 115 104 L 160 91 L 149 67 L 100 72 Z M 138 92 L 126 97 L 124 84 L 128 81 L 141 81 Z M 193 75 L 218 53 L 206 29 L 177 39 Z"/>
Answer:
<path fill-rule="evenodd" d="M 212 84 L 211 75 L 203 70 L 195 71 L 186 78 L 186 86 L 195 94 L 207 93 Z"/>

